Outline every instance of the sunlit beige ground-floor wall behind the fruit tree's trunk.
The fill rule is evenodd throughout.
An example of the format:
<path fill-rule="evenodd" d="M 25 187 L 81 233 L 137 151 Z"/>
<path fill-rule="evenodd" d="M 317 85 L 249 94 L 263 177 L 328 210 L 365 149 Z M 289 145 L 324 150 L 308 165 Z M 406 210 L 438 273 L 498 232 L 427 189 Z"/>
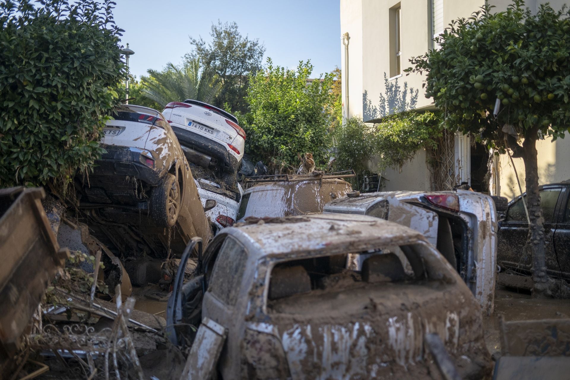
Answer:
<path fill-rule="evenodd" d="M 540 185 L 561 182 L 570 179 L 570 134 L 565 133 L 565 138 L 552 142 L 548 137 L 536 142 L 538 150 L 538 179 Z M 519 175 L 520 186 L 525 189 L 524 163 L 522 158 L 513 158 L 516 172 Z M 500 195 L 508 199 L 520 194 L 519 185 L 516 182 L 515 171 L 510 159 L 506 154 L 499 158 Z"/>

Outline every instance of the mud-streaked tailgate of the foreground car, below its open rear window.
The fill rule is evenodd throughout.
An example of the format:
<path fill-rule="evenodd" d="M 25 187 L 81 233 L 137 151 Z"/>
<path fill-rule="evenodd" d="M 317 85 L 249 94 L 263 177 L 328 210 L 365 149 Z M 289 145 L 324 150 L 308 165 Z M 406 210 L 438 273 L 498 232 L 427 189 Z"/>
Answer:
<path fill-rule="evenodd" d="M 442 281 L 355 283 L 270 301 L 268 314 L 292 378 L 407 378 L 429 371 L 426 333 L 455 359 L 483 359 L 481 314 L 458 293 Z"/>

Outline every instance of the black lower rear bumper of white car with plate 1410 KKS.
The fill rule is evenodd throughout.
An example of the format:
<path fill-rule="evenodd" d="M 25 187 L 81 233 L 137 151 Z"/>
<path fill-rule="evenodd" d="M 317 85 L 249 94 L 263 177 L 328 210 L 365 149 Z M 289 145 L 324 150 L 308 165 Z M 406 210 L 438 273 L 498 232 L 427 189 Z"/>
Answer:
<path fill-rule="evenodd" d="M 226 171 L 236 171 L 239 166 L 239 161 L 229 151 L 227 144 L 222 144 L 211 140 L 211 138 L 200 136 L 190 132 L 186 128 L 171 124 L 174 134 L 178 138 L 180 145 L 184 145 L 197 152 L 211 156 L 223 163 L 223 169 Z"/>

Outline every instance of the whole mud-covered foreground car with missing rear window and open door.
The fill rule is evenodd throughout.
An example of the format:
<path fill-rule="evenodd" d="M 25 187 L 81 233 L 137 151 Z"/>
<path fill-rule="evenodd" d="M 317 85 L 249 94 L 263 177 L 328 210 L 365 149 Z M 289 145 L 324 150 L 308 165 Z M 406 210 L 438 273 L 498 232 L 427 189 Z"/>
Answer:
<path fill-rule="evenodd" d="M 420 233 L 371 216 L 225 228 L 192 280 L 174 285 L 167 313 L 169 326 L 204 321 L 185 367 L 193 379 L 215 370 L 225 379 L 441 378 L 430 333 L 463 379 L 490 372 L 481 308 L 461 277 Z"/>

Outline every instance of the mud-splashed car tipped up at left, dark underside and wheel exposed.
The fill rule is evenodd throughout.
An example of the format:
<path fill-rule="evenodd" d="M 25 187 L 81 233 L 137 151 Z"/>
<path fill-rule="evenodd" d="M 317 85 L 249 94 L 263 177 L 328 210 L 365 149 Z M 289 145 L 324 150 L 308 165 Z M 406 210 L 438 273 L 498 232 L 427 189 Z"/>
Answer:
<path fill-rule="evenodd" d="M 166 256 L 193 236 L 210 239 L 192 171 L 160 112 L 123 106 L 100 144 L 93 172 L 76 177 L 79 209 L 99 240 L 120 253 Z"/>

